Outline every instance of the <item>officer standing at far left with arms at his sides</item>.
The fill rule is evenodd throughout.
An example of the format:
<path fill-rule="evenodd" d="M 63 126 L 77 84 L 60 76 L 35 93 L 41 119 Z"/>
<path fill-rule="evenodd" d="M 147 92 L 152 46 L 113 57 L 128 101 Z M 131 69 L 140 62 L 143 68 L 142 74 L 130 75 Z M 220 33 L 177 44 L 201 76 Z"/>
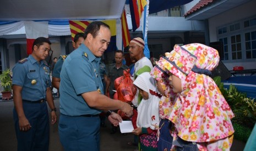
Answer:
<path fill-rule="evenodd" d="M 50 127 L 46 101 L 51 124 L 57 121 L 50 68 L 43 63 L 51 50 L 50 45 L 45 37 L 35 39 L 32 54 L 13 68 L 13 119 L 18 150 L 48 150 Z"/>

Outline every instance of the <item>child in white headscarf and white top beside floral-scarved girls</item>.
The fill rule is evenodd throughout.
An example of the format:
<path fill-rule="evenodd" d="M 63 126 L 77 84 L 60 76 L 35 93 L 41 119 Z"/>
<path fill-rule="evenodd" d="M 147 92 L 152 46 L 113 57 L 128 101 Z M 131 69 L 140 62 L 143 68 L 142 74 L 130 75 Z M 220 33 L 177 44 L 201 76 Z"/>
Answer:
<path fill-rule="evenodd" d="M 134 135 L 139 136 L 142 150 L 157 150 L 156 132 L 159 125 L 159 100 L 161 95 L 156 89 L 155 79 L 149 72 L 138 75 L 133 82 L 143 97 L 138 106 L 137 128 Z"/>

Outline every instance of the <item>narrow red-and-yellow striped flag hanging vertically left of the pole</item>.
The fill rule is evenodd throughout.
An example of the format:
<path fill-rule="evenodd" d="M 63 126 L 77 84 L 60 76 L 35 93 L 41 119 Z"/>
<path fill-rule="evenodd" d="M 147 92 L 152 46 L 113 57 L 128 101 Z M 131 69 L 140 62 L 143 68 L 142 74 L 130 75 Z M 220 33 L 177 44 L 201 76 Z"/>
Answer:
<path fill-rule="evenodd" d="M 130 42 L 130 33 L 129 33 L 127 19 L 126 19 L 126 9 L 123 9 L 121 22 L 122 22 L 123 47 L 127 47 Z"/>

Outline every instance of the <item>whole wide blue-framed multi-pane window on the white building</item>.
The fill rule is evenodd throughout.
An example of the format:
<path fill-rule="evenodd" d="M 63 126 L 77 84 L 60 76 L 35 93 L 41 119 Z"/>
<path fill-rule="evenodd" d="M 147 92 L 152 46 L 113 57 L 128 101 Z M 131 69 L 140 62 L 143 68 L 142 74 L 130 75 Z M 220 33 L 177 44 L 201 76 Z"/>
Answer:
<path fill-rule="evenodd" d="M 218 27 L 217 38 L 223 45 L 221 60 L 240 62 L 256 59 L 256 17 Z"/>

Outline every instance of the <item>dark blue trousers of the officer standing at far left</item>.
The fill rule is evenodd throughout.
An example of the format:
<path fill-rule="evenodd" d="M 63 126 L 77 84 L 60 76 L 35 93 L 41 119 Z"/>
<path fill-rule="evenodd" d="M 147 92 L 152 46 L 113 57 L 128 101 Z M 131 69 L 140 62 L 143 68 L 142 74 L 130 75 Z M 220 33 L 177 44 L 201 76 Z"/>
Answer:
<path fill-rule="evenodd" d="M 14 108 L 13 119 L 18 150 L 48 150 L 50 127 L 46 102 L 30 103 L 23 101 L 23 110 L 32 127 L 26 132 L 19 130 L 19 118 Z"/>

